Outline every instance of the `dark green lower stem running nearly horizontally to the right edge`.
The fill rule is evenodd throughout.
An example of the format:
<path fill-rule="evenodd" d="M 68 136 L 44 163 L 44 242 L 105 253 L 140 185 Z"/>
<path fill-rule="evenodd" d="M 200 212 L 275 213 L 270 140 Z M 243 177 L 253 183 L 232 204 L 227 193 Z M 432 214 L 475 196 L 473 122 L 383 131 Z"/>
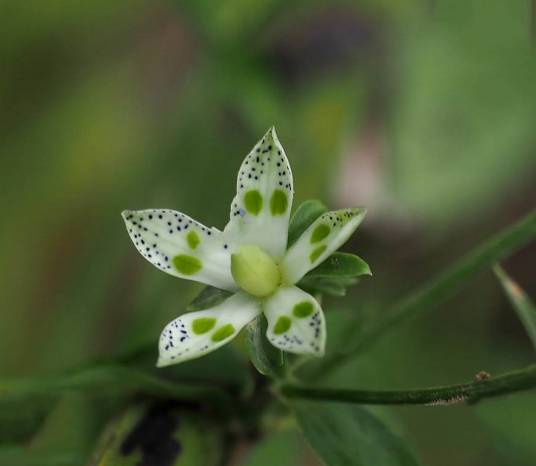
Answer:
<path fill-rule="evenodd" d="M 450 405 L 473 404 L 485 398 L 536 388 L 536 365 L 497 377 L 460 385 L 416 390 L 348 390 L 307 388 L 285 384 L 279 391 L 287 398 L 380 405 Z"/>

